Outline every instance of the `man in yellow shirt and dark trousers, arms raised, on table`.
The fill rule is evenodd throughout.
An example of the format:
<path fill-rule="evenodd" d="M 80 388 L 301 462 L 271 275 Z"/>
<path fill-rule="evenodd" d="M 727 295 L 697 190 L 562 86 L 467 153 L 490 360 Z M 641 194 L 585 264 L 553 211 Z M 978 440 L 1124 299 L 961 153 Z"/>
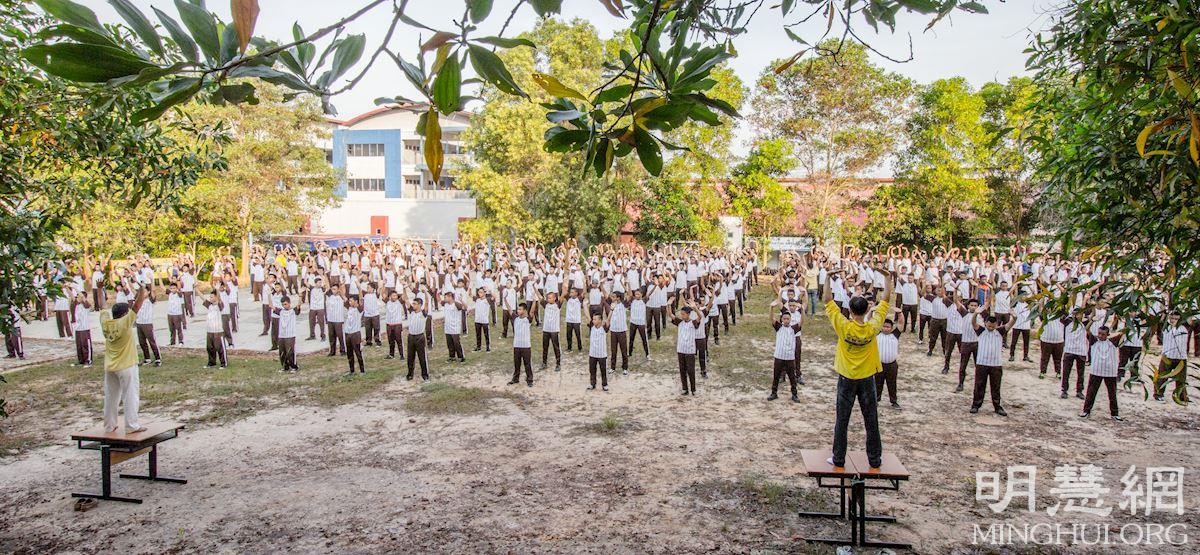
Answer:
<path fill-rule="evenodd" d="M 840 270 L 838 270 L 840 271 Z M 838 271 L 833 271 L 835 274 Z M 850 317 L 845 317 L 833 300 L 833 288 L 826 287 L 822 302 L 826 315 L 834 333 L 838 334 L 838 352 L 834 356 L 834 370 L 838 371 L 838 420 L 833 426 L 833 466 L 846 465 L 846 428 L 850 414 L 854 410 L 854 400 L 863 410 L 863 424 L 866 426 L 866 459 L 872 469 L 878 469 L 883 459 L 883 443 L 880 441 L 878 405 L 875 395 L 875 375 L 883 366 L 880 364 L 880 352 L 875 336 L 883 328 L 890 309 L 892 288 L 895 276 L 887 275 L 887 286 L 870 320 L 866 317 L 868 302 L 864 297 L 850 299 Z"/>

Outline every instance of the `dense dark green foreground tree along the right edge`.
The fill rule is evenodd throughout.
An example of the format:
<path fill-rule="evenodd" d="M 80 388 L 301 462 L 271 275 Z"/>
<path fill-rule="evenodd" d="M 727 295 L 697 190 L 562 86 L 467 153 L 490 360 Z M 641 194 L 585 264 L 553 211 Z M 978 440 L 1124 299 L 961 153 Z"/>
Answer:
<path fill-rule="evenodd" d="M 1200 312 L 1198 20 L 1193 0 L 1073 0 L 1027 61 L 1052 85 L 1034 101 L 1045 118 L 1034 144 L 1060 249 L 1112 273 L 1099 292 L 1110 310 L 1156 324 L 1156 303 Z M 1048 294 L 1046 311 L 1076 292 Z M 1126 383 L 1141 383 L 1136 369 Z M 1172 396 L 1184 393 L 1181 381 Z"/>

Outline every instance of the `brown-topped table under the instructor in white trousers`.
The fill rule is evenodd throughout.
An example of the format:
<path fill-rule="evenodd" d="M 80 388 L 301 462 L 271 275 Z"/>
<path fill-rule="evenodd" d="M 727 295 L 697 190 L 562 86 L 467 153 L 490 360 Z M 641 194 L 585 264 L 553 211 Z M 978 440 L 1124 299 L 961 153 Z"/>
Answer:
<path fill-rule="evenodd" d="M 140 455 L 149 455 L 150 469 L 146 475 L 120 475 L 121 478 L 148 479 L 154 482 L 169 482 L 172 484 L 186 484 L 186 479 L 167 478 L 158 476 L 158 443 L 179 437 L 179 430 L 184 424 L 155 423 L 148 424 L 144 431 L 126 434 L 124 429 L 116 431 L 104 431 L 103 428 L 95 428 L 88 431 L 72 434 L 71 440 L 80 449 L 100 452 L 100 494 L 71 494 L 72 497 L 101 499 L 107 501 L 124 501 L 126 503 L 140 503 L 142 500 L 132 497 L 118 497 L 113 495 L 113 465 L 125 462 Z"/>

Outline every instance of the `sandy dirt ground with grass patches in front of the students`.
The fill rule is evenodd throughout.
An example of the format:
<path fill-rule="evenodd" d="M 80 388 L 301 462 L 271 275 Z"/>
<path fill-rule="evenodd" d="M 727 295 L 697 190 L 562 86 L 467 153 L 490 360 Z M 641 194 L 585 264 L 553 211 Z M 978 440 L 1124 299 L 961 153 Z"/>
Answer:
<path fill-rule="evenodd" d="M 44 435 L 47 444 L 0 458 L 0 551 L 833 553 L 803 538 L 844 536 L 845 524 L 796 512 L 836 506 L 799 460 L 799 449 L 830 442 L 834 344 L 824 317 L 811 318 L 802 402 L 786 395 L 766 401 L 766 294 L 758 288 L 745 320 L 713 347 L 709 377 L 695 398 L 678 394 L 673 329 L 670 339 L 652 341 L 653 360 L 638 353 L 629 376 L 612 376 L 610 393 L 586 390 L 587 360 L 578 353 L 564 353 L 562 372 L 553 364 L 538 370 L 535 345 L 536 383 L 527 388 L 505 384 L 509 340 L 497 339 L 484 354 L 469 351 L 470 338 L 467 365 L 448 364 L 438 344 L 430 357 L 433 378 L 452 387 L 422 388 L 396 375 L 337 405 L 263 394 L 253 411 L 202 420 L 163 446 L 161 472 L 186 477 L 186 485 L 114 478 L 118 495 L 145 503 L 102 502 L 78 513 L 70 493 L 98 488 L 95 453 L 67 441 L 98 422 L 98 381 L 84 383 L 95 388 L 90 402 L 30 406 L 2 428 Z M 330 360 L 306 357 L 301 366 Z M 396 363 L 368 356 L 372 371 L 395 371 Z M 338 371 L 326 366 L 319 371 Z M 1122 392 L 1127 420 L 1112 422 L 1102 392 L 1092 417 L 1080 419 L 1080 401 L 1058 399 L 1056 381 L 1038 380 L 1033 364 L 1008 363 L 1009 417 L 992 414 L 989 405 L 970 414 L 970 392 L 954 393 L 954 372 L 942 375 L 940 366 L 913 336 L 901 338 L 902 410 L 884 399 L 880 424 L 884 449 L 912 481 L 899 493 L 871 493 L 871 513 L 899 519 L 869 524 L 874 537 L 912 542 L 917 553 L 1100 553 L 1112 548 L 977 545 L 972 531 L 998 521 L 1103 521 L 1182 524 L 1189 536 L 1200 533 L 1200 483 L 1190 467 L 1200 446 L 1195 406 Z M 32 386 L 5 393 L 20 398 L 24 387 Z M 190 422 L 196 402 L 148 404 L 143 418 Z M 863 448 L 857 408 L 850 440 L 852 449 Z M 1049 517 L 1057 499 L 1050 495 L 1054 467 L 1082 464 L 1104 469 L 1112 514 Z M 1038 467 L 1037 513 L 1009 508 L 997 515 L 976 501 L 976 472 L 1003 473 L 1007 465 Z M 1120 478 L 1130 465 L 1139 472 L 1187 469 L 1186 513 L 1117 509 Z M 1195 544 L 1116 549 L 1196 553 Z"/>

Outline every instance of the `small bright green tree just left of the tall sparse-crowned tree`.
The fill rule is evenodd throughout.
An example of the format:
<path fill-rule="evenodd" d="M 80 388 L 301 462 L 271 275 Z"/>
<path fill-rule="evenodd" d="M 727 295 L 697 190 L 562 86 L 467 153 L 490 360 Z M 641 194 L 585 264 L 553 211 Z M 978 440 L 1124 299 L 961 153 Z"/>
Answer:
<path fill-rule="evenodd" d="M 746 160 L 733 168 L 730 208 L 740 216 L 746 233 L 764 239 L 790 225 L 792 193 L 779 183 L 796 166 L 791 147 L 781 139 L 760 141 Z"/>

